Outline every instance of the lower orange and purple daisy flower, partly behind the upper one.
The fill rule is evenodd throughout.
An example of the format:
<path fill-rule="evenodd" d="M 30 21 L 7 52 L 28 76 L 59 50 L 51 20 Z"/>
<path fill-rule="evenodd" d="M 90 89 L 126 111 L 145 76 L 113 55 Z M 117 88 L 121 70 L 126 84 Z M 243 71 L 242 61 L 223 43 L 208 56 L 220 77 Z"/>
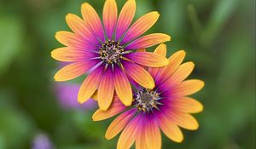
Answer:
<path fill-rule="evenodd" d="M 155 53 L 166 55 L 166 46 L 160 45 Z M 198 123 L 190 113 L 201 112 L 200 102 L 187 97 L 199 91 L 204 83 L 200 80 L 185 80 L 194 69 L 193 62 L 182 63 L 185 52 L 178 51 L 170 57 L 163 68 L 150 68 L 155 88 L 139 85 L 134 91 L 130 107 L 123 106 L 116 96 L 108 111 L 97 110 L 94 121 L 116 117 L 108 127 L 105 137 L 109 140 L 118 135 L 118 149 L 130 148 L 134 141 L 137 149 L 160 149 L 160 130 L 171 140 L 181 142 L 183 129 L 198 129 Z"/>

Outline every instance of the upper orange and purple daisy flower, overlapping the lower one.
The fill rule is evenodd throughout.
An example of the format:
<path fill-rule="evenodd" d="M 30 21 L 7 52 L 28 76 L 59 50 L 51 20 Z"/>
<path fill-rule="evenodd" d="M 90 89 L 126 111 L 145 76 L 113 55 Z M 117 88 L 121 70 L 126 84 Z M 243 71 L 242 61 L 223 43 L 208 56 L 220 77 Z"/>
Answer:
<path fill-rule="evenodd" d="M 79 89 L 80 103 L 97 90 L 98 105 L 107 110 L 115 90 L 122 103 L 130 106 L 130 77 L 145 88 L 154 88 L 154 80 L 143 66 L 166 66 L 168 60 L 141 49 L 170 41 L 171 37 L 162 33 L 140 37 L 154 25 L 160 14 L 145 14 L 129 28 L 135 11 L 135 0 L 128 0 L 118 17 L 115 0 L 106 0 L 102 14 L 104 26 L 89 3 L 82 4 L 84 20 L 75 14 L 67 14 L 67 24 L 73 32 L 56 33 L 56 39 L 67 47 L 55 49 L 51 55 L 55 60 L 72 62 L 55 74 L 56 81 L 89 74 Z"/>

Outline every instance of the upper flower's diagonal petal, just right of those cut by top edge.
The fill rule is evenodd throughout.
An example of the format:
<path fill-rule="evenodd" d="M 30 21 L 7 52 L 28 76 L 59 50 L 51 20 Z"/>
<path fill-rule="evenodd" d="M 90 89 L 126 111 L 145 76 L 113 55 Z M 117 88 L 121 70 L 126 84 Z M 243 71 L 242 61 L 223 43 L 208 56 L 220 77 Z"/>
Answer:
<path fill-rule="evenodd" d="M 122 43 L 129 43 L 136 37 L 141 36 L 144 32 L 147 32 L 158 20 L 159 16 L 160 14 L 156 11 L 143 15 L 128 30 Z"/>

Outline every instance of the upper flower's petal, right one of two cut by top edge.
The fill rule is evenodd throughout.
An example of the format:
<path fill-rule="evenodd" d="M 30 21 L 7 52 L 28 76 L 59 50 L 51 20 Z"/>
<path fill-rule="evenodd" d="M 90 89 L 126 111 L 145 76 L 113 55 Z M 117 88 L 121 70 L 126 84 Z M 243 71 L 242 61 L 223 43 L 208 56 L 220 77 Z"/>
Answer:
<path fill-rule="evenodd" d="M 119 40 L 120 37 L 125 33 L 128 27 L 131 25 L 131 21 L 135 15 L 136 3 L 135 0 L 127 0 L 123 9 L 119 14 L 119 20 L 117 22 L 116 29 L 116 40 Z"/>

